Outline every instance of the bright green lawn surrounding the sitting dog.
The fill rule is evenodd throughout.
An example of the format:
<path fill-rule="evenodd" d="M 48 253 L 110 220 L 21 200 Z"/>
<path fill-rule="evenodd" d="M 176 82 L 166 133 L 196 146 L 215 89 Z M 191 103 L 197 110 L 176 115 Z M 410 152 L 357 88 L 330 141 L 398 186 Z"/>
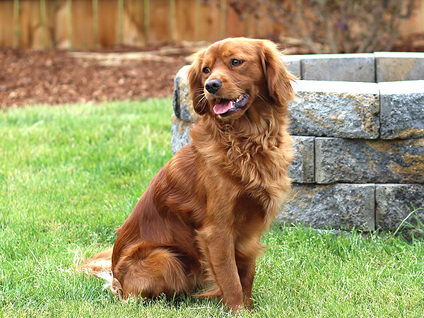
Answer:
<path fill-rule="evenodd" d="M 227 317 L 216 300 L 119 302 L 73 271 L 114 242 L 171 157 L 171 100 L 0 112 L 0 317 Z M 424 317 L 424 242 L 273 228 L 240 317 Z"/>

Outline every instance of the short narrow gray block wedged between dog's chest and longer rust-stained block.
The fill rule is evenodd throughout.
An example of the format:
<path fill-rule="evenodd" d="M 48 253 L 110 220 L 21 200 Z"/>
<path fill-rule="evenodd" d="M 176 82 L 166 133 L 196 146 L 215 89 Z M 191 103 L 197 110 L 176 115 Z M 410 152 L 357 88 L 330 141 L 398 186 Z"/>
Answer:
<path fill-rule="evenodd" d="M 315 181 L 314 139 L 310 136 L 293 136 L 295 158 L 289 171 L 293 182 L 312 183 Z"/>

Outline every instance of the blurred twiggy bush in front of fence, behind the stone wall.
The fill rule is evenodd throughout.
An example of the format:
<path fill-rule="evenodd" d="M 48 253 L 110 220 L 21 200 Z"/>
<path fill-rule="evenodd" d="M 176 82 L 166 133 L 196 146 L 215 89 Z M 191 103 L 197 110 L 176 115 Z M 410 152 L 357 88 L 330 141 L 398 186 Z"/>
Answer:
<path fill-rule="evenodd" d="M 230 0 L 240 18 L 271 18 L 311 52 L 389 51 L 416 0 Z"/>

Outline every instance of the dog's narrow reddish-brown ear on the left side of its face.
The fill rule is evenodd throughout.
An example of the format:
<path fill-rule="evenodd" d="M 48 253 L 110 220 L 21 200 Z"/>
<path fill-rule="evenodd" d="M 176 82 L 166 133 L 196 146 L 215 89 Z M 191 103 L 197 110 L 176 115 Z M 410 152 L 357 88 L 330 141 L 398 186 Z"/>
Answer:
<path fill-rule="evenodd" d="M 203 61 L 206 49 L 201 50 L 193 55 L 192 65 L 187 71 L 190 83 L 190 91 L 192 93 L 193 108 L 197 114 L 204 114 L 206 112 L 207 100 L 205 98 L 204 86 L 201 81 L 202 72 L 201 64 Z"/>

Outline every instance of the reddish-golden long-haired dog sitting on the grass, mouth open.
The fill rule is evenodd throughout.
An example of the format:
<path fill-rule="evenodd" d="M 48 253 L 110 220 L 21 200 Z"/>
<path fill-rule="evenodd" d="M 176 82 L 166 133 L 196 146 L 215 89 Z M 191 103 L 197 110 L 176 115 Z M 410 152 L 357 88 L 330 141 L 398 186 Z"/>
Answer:
<path fill-rule="evenodd" d="M 261 235 L 290 192 L 292 81 L 276 45 L 233 38 L 194 55 L 192 141 L 148 186 L 117 240 L 80 269 L 120 298 L 182 293 L 252 307 Z"/>

